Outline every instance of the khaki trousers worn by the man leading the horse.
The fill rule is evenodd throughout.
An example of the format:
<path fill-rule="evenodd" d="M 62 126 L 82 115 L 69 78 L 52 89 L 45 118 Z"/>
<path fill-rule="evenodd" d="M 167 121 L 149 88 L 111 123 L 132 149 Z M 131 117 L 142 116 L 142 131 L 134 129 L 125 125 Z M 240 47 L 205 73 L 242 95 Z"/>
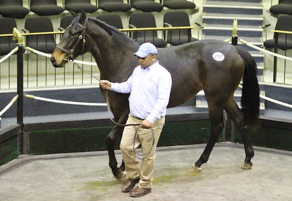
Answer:
<path fill-rule="evenodd" d="M 132 115 L 129 115 L 126 124 L 140 124 L 143 120 L 137 119 Z M 152 147 L 153 140 L 148 142 L 147 140 L 151 139 L 152 132 L 151 129 L 142 129 L 139 128 L 136 135 L 135 141 L 135 149 L 141 144 L 142 154 L 146 154 L 151 150 L 150 154 L 138 156 L 139 158 L 143 158 L 141 165 L 139 167 L 140 162 L 136 161 L 136 154 L 133 150 L 133 140 L 135 136 L 135 131 L 137 126 L 126 126 L 124 127 L 120 149 L 122 153 L 122 159 L 126 167 L 126 172 L 129 178 L 140 178 L 139 186 L 142 188 L 151 188 L 152 185 L 152 175 L 154 172 L 155 159 L 156 159 L 156 146 L 160 137 L 160 133 L 165 123 L 165 118 L 161 117 L 161 119 L 156 120 L 152 124 L 152 128 L 154 130 L 154 145 Z"/>

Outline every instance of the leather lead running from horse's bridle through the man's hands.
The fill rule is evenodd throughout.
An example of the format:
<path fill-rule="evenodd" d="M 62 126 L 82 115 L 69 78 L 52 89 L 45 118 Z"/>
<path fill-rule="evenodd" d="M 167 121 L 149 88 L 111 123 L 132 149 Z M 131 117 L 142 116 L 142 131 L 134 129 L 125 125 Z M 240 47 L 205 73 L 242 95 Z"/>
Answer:
<path fill-rule="evenodd" d="M 81 66 L 79 66 L 79 65 L 78 65 L 77 63 L 75 63 L 73 60 L 70 60 L 70 59 L 65 59 L 65 60 L 66 60 L 66 61 L 70 61 L 70 62 L 72 62 L 73 65 L 74 65 L 77 69 L 79 69 L 80 71 L 84 71 L 85 73 L 89 74 L 90 76 L 92 76 L 93 78 L 95 78 L 97 81 L 100 82 L 100 79 L 98 79 L 97 77 L 95 77 L 95 76 L 92 75 L 91 73 L 87 72 L 84 68 L 82 68 Z M 139 160 L 143 160 L 143 159 L 147 158 L 147 157 L 149 156 L 150 152 L 152 151 L 153 146 L 154 146 L 154 130 L 153 130 L 153 128 L 150 127 L 150 129 L 151 129 L 151 138 L 148 139 L 148 140 L 146 140 L 146 142 L 150 142 L 150 141 L 153 139 L 153 141 L 152 141 L 152 146 L 151 146 L 150 151 L 149 151 L 148 153 L 144 153 L 144 154 L 143 154 L 143 153 L 142 153 L 142 154 L 137 153 L 137 151 L 136 151 L 136 149 L 135 149 L 135 142 L 136 142 L 137 131 L 138 131 L 138 129 L 140 128 L 140 125 L 141 125 L 141 124 L 119 124 L 119 123 L 115 122 L 115 121 L 113 120 L 113 118 L 111 117 L 111 108 L 110 108 L 110 101 L 109 101 L 108 90 L 106 90 L 106 101 L 107 101 L 107 107 L 108 107 L 109 117 L 110 117 L 110 120 L 111 120 L 112 122 L 114 122 L 116 125 L 119 125 L 119 126 L 138 126 L 138 127 L 136 128 L 135 135 L 134 135 L 134 139 L 133 139 L 133 151 L 135 152 L 135 157 L 136 157 L 137 159 L 139 159 Z M 137 157 L 137 155 L 142 156 L 142 158 Z M 144 158 L 144 155 L 146 155 L 145 158 Z"/>

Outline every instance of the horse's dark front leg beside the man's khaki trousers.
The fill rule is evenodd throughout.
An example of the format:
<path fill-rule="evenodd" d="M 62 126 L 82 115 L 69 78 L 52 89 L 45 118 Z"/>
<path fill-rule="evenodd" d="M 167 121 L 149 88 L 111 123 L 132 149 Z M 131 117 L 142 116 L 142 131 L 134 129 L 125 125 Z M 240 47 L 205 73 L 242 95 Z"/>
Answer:
<path fill-rule="evenodd" d="M 123 115 L 119 118 L 118 123 L 119 124 L 126 123 L 128 114 L 129 114 L 128 112 L 123 113 Z M 114 152 L 115 142 L 121 138 L 123 128 L 124 128 L 123 126 L 116 125 L 114 129 L 109 133 L 106 140 L 106 146 L 109 153 L 109 166 L 112 169 L 114 177 L 116 178 L 117 181 L 120 181 L 126 175 L 126 172 L 124 171 L 125 168 L 123 161 L 121 163 L 121 166 L 119 168 L 117 167 L 118 163 Z"/>

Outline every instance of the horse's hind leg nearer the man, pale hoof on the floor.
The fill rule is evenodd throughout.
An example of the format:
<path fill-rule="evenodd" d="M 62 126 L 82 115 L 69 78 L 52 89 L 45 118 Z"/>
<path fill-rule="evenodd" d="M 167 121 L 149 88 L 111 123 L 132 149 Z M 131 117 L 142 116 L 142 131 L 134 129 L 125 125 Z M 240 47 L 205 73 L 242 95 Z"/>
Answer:
<path fill-rule="evenodd" d="M 211 121 L 211 137 L 199 160 L 192 165 L 189 172 L 200 172 L 201 165 L 206 163 L 210 157 L 211 151 L 217 142 L 217 139 L 224 128 L 223 109 L 213 108 L 209 106 L 209 117 Z"/>

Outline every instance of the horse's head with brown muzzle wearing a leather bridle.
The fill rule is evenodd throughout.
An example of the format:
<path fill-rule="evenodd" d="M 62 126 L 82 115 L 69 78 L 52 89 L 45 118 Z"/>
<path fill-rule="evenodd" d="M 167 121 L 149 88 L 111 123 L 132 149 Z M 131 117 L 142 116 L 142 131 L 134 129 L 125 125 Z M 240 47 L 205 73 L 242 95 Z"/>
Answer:
<path fill-rule="evenodd" d="M 88 52 L 89 45 L 86 45 L 86 31 L 88 17 L 84 10 L 80 16 L 72 12 L 75 17 L 71 25 L 65 30 L 62 39 L 56 46 L 51 62 L 57 67 L 64 67 L 69 60 L 74 60 L 78 55 Z"/>

